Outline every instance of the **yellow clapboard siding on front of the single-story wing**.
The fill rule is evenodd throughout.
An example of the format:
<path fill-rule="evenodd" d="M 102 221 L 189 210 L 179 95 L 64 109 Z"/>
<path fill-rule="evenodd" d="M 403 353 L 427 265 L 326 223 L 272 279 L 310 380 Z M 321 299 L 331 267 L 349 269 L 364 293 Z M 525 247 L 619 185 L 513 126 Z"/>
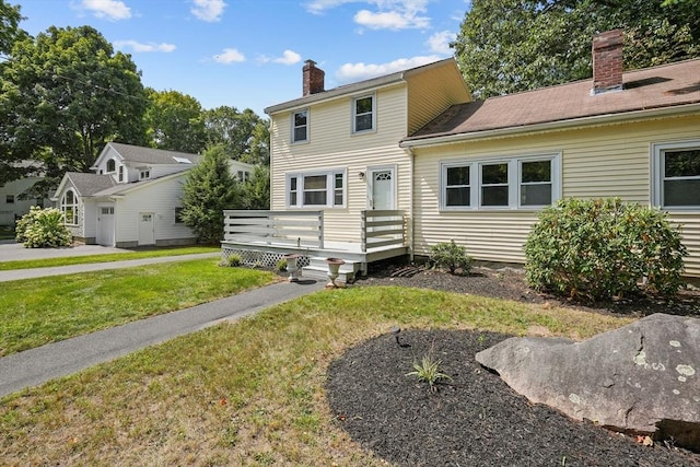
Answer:
<path fill-rule="evenodd" d="M 690 138 L 700 138 L 698 115 L 416 148 L 415 253 L 427 255 L 431 245 L 454 238 L 476 259 L 525 260 L 523 245 L 537 212 L 440 212 L 442 161 L 560 152 L 564 197 L 616 196 L 650 206 L 651 144 Z M 672 219 L 684 224 L 684 243 L 691 254 L 686 272 L 700 276 L 700 212 L 673 213 Z"/>

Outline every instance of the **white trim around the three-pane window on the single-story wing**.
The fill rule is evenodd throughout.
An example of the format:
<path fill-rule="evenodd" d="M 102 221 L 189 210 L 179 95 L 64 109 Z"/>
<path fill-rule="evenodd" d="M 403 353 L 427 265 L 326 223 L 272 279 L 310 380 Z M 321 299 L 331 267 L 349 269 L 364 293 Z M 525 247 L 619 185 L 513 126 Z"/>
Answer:
<path fill-rule="evenodd" d="M 535 206 L 521 203 L 521 166 L 523 162 L 551 162 L 551 202 L 561 198 L 561 152 L 528 155 L 499 156 L 493 159 L 448 160 L 440 162 L 440 211 L 538 211 L 550 205 Z M 483 165 L 508 164 L 508 206 L 481 206 L 481 167 Z M 447 168 L 469 166 L 469 206 L 447 206 Z"/>

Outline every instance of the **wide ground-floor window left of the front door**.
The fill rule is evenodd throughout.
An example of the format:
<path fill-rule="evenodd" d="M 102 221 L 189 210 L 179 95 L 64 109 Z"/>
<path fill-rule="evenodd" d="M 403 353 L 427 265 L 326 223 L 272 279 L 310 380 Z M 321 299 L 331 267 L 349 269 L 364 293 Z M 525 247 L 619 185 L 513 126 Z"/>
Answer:
<path fill-rule="evenodd" d="M 341 208 L 346 203 L 346 171 L 287 175 L 290 208 Z"/>

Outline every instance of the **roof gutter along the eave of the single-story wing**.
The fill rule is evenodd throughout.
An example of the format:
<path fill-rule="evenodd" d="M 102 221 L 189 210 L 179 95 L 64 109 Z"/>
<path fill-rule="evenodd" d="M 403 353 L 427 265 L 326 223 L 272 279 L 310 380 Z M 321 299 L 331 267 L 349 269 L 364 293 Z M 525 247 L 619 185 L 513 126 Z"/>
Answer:
<path fill-rule="evenodd" d="M 625 112 L 620 114 L 596 115 L 592 117 L 573 118 L 570 120 L 547 121 L 544 124 L 525 125 L 522 127 L 500 128 L 493 130 L 472 131 L 467 133 L 444 135 L 432 138 L 427 137 L 415 140 L 404 140 L 399 142 L 399 147 L 424 148 L 431 145 L 456 144 L 463 141 L 505 138 L 537 131 L 555 131 L 576 127 L 586 127 L 592 125 L 619 124 L 648 118 L 666 117 L 672 115 L 684 116 L 695 113 L 700 113 L 700 103 L 677 105 L 673 107 Z"/>

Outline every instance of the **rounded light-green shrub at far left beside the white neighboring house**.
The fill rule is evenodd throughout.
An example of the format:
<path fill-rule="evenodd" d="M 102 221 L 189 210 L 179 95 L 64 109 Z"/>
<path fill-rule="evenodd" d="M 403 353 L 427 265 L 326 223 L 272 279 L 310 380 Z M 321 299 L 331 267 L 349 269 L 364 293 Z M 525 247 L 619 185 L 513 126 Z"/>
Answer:
<path fill-rule="evenodd" d="M 73 238 L 63 224 L 63 213 L 55 208 L 30 208 L 18 221 L 15 240 L 27 248 L 57 248 L 70 246 Z"/>

